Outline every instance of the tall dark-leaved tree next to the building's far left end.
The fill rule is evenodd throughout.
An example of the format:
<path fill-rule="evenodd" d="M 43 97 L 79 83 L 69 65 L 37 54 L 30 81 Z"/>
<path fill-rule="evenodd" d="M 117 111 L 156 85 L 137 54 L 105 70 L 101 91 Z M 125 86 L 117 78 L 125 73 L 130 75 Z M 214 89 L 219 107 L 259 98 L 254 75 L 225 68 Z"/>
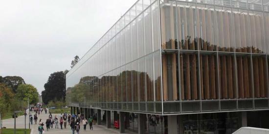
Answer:
<path fill-rule="evenodd" d="M 47 104 L 50 100 L 66 99 L 66 75 L 63 71 L 50 74 L 42 91 L 42 100 Z"/>

